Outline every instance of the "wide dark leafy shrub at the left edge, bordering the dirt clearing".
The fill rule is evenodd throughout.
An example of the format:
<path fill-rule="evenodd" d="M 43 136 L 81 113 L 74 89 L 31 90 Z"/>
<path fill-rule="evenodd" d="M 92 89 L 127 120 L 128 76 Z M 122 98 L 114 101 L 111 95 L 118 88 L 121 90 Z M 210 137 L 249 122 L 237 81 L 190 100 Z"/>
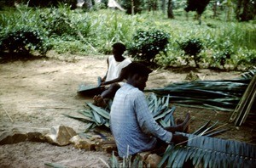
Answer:
<path fill-rule="evenodd" d="M 44 39 L 43 33 L 36 30 L 20 28 L 9 31 L 0 39 L 0 53 L 29 54 L 38 51 L 45 55 L 50 48 L 44 43 Z"/>

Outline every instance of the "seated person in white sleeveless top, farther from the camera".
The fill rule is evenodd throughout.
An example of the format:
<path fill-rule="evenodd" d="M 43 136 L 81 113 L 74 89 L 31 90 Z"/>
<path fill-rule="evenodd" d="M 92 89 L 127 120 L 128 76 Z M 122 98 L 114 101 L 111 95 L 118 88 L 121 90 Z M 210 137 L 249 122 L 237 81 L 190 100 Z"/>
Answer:
<path fill-rule="evenodd" d="M 131 60 L 125 58 L 123 53 L 125 52 L 125 45 L 121 42 L 116 42 L 113 44 L 113 55 L 108 57 L 108 71 L 106 76 L 102 78 L 102 82 L 112 81 L 119 77 L 120 72 L 123 68 L 125 68 L 128 64 L 131 63 Z M 109 83 L 110 84 L 110 83 Z M 111 82 L 110 87 L 108 87 L 101 95 L 96 95 L 94 99 L 94 104 L 100 107 L 105 107 L 106 99 L 113 98 L 115 92 L 119 89 L 119 87 L 123 84 L 123 82 Z M 106 83 L 104 85 L 107 85 Z"/>

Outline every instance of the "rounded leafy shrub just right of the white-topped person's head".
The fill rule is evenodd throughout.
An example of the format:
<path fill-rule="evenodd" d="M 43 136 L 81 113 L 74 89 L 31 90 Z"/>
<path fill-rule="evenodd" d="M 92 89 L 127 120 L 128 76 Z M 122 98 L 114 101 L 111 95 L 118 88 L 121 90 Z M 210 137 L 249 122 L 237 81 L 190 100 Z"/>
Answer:
<path fill-rule="evenodd" d="M 169 38 L 169 34 L 159 30 L 136 31 L 128 53 L 135 59 L 152 63 L 156 54 L 166 52 Z"/>

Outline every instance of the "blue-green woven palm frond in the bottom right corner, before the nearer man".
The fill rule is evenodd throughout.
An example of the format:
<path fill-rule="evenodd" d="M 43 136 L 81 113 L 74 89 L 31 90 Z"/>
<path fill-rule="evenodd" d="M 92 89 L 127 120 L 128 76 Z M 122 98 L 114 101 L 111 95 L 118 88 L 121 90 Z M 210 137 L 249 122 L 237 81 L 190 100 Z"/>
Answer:
<path fill-rule="evenodd" d="M 187 145 L 170 145 L 159 166 L 183 167 L 190 161 L 192 165 L 203 167 L 255 167 L 256 146 L 249 143 L 224 140 L 215 137 L 181 133 L 189 137 Z"/>

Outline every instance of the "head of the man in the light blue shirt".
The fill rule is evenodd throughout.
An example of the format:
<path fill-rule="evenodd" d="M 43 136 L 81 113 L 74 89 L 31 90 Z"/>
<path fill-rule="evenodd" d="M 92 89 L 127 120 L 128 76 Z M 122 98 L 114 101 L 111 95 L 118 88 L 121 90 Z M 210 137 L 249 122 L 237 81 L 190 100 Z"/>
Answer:
<path fill-rule="evenodd" d="M 137 87 L 141 91 L 146 87 L 146 82 L 148 81 L 148 74 L 150 70 L 147 66 L 141 63 L 132 62 L 125 67 L 125 74 L 127 83 L 131 84 L 133 87 Z"/>

